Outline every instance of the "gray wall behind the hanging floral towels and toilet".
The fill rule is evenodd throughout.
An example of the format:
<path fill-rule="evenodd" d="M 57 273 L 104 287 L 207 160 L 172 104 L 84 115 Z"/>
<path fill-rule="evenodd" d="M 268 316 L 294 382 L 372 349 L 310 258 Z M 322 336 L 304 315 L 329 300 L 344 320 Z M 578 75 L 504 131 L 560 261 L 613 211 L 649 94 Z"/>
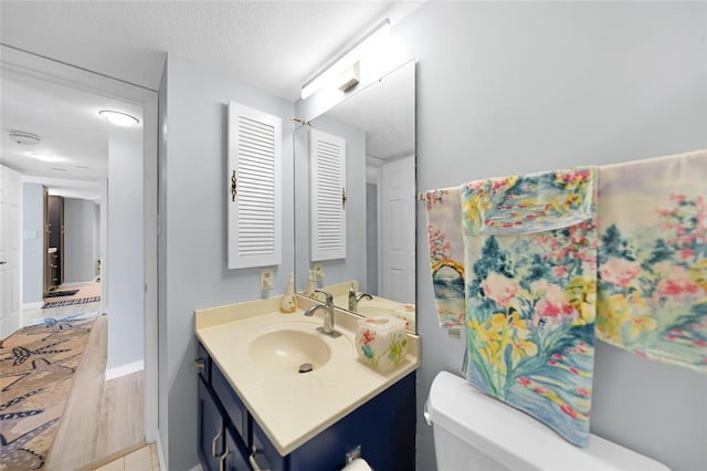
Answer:
<path fill-rule="evenodd" d="M 707 146 L 704 2 L 430 2 L 393 30 L 418 64 L 420 190 Z M 422 405 L 463 341 L 436 325 L 418 208 Z M 674 469 L 707 468 L 707 377 L 598 343 L 593 432 Z"/>

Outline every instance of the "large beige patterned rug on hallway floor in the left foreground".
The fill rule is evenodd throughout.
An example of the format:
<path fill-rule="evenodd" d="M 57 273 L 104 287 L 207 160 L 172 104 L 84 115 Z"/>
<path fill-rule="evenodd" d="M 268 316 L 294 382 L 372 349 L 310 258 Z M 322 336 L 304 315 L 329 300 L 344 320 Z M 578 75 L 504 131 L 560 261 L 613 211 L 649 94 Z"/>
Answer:
<path fill-rule="evenodd" d="M 42 470 L 96 312 L 48 317 L 0 350 L 0 470 Z"/>

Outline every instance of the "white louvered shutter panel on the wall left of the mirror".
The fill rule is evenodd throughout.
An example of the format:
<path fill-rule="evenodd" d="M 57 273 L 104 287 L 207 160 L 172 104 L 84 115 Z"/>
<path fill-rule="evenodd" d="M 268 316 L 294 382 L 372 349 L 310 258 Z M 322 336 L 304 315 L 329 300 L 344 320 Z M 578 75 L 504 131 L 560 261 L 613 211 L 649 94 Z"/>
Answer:
<path fill-rule="evenodd" d="M 228 159 L 229 269 L 278 265 L 282 119 L 230 102 Z"/>

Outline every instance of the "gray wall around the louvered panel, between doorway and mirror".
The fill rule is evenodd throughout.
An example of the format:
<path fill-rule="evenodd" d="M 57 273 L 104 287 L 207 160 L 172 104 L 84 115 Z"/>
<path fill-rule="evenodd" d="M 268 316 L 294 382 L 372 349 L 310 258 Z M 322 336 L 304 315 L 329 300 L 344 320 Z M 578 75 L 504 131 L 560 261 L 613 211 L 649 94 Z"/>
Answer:
<path fill-rule="evenodd" d="M 265 295 L 282 294 L 294 271 L 294 104 L 169 54 L 160 86 L 160 130 L 168 133 L 161 136 L 159 176 L 159 433 L 173 471 L 198 462 L 194 310 L 262 295 L 261 269 L 226 269 L 230 100 L 283 119 L 283 263 Z"/>

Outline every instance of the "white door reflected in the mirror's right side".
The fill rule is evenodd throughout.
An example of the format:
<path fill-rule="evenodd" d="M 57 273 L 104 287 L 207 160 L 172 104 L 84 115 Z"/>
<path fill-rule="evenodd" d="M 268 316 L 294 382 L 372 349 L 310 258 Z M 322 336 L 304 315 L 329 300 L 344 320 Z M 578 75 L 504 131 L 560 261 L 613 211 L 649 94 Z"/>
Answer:
<path fill-rule="evenodd" d="M 386 164 L 381 171 L 380 295 L 415 302 L 415 160 Z"/>

